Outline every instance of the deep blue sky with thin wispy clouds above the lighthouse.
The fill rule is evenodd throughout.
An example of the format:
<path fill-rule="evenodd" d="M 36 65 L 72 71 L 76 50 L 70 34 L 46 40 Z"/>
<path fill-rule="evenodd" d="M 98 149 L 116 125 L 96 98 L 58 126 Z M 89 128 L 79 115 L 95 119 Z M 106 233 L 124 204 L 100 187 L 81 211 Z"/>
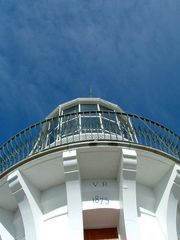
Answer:
<path fill-rule="evenodd" d="M 76 97 L 180 133 L 179 0 L 0 0 L 0 143 Z"/>

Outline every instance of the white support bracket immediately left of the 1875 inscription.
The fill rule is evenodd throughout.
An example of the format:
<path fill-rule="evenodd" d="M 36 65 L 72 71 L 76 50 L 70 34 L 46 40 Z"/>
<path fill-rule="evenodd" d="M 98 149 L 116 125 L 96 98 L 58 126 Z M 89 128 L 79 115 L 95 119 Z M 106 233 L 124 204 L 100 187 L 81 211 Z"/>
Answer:
<path fill-rule="evenodd" d="M 81 181 L 76 150 L 63 152 L 66 181 L 69 240 L 83 240 Z"/>

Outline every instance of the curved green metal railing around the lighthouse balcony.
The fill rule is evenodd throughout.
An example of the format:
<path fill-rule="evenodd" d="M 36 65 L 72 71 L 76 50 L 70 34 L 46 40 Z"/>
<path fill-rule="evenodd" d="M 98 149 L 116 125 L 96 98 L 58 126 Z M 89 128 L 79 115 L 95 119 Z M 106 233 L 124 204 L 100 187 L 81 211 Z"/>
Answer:
<path fill-rule="evenodd" d="M 121 112 L 78 112 L 38 122 L 5 142 L 0 173 L 46 149 L 91 140 L 140 144 L 180 159 L 180 136 L 159 123 Z"/>

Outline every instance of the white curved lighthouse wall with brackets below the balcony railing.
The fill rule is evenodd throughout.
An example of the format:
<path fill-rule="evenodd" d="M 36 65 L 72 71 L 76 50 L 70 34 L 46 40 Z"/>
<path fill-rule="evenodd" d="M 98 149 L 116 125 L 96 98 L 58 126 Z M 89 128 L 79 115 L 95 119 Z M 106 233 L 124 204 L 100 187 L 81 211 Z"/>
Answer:
<path fill-rule="evenodd" d="M 1 178 L 0 237 L 81 240 L 84 229 L 117 228 L 121 240 L 175 240 L 178 169 L 147 149 L 47 150 Z"/>

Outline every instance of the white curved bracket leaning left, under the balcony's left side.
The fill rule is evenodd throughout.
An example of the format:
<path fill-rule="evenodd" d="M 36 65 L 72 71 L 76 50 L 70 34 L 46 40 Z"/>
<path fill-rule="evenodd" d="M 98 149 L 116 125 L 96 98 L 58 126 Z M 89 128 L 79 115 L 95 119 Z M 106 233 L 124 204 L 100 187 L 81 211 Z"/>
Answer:
<path fill-rule="evenodd" d="M 38 190 L 18 171 L 11 173 L 7 179 L 14 195 L 24 224 L 26 240 L 43 240 L 42 212 L 40 210 L 40 194 Z"/>

